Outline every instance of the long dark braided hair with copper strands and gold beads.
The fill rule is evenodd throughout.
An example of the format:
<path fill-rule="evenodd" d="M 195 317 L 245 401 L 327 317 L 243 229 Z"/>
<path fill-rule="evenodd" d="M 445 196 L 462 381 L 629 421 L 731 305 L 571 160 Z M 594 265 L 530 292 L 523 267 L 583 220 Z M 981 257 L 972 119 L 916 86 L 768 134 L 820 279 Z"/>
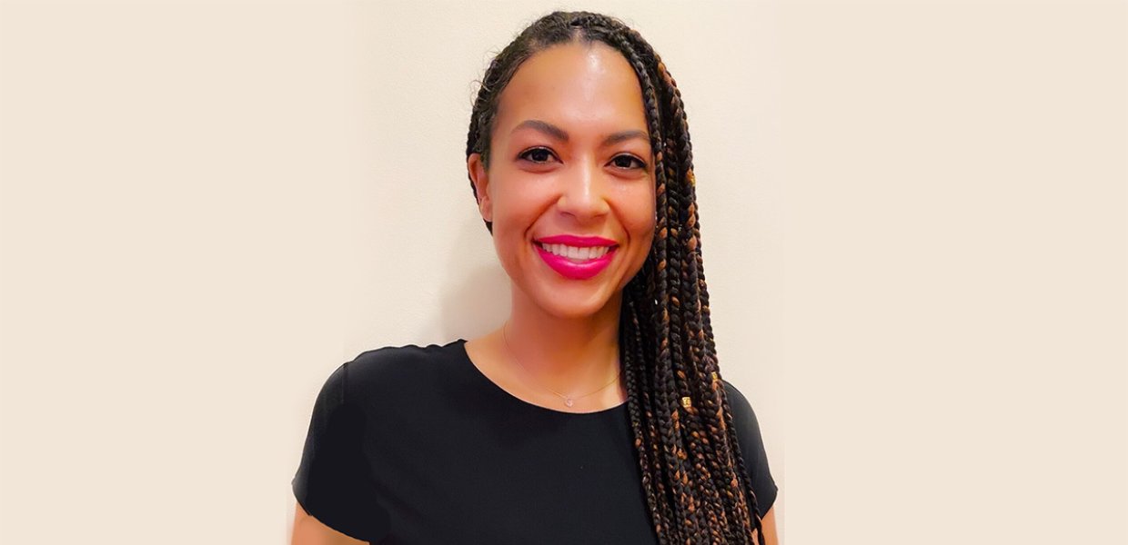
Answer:
<path fill-rule="evenodd" d="M 490 163 L 502 90 L 522 62 L 557 44 L 602 42 L 638 77 L 654 152 L 654 242 L 626 285 L 619 318 L 627 409 L 651 521 L 662 544 L 764 545 L 756 494 L 717 368 L 702 263 L 693 151 L 681 92 L 659 55 L 618 19 L 555 11 L 490 63 L 466 142 Z M 472 179 L 474 196 L 477 189 Z M 493 224 L 485 222 L 493 233 Z"/>

